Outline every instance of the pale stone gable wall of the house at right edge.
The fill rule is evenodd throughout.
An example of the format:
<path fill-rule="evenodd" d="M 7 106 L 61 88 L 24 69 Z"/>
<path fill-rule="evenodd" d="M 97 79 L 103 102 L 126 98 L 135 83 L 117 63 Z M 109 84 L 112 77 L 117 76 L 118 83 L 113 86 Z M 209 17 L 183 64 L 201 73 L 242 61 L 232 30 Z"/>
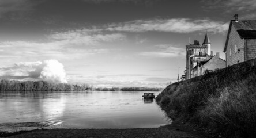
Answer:
<path fill-rule="evenodd" d="M 235 45 L 237 47 L 235 51 Z M 229 53 L 231 48 L 231 55 Z M 238 52 L 240 49 L 240 52 Z M 229 40 L 226 51 L 226 60 L 227 66 L 231 66 L 232 64 L 237 64 L 239 62 L 244 62 L 244 39 L 241 39 L 234 25 L 231 27 L 231 31 L 229 34 Z"/>

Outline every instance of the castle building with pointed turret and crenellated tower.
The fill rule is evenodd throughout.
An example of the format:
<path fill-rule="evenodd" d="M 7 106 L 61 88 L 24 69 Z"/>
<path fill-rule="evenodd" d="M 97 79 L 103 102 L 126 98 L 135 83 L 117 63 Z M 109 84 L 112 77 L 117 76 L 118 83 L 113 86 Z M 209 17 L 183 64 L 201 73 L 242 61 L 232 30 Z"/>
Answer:
<path fill-rule="evenodd" d="M 226 67 L 226 63 L 223 59 L 220 59 L 219 53 L 213 56 L 213 51 L 210 50 L 210 47 L 211 44 L 207 33 L 202 45 L 197 40 L 194 40 L 194 44 L 186 45 L 186 79 L 203 75 L 205 70 Z"/>

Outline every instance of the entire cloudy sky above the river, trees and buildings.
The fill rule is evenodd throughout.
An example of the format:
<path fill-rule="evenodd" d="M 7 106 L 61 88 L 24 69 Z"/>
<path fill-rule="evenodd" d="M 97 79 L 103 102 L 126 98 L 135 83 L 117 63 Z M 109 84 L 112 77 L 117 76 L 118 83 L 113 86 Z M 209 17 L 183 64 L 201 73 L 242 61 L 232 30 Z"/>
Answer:
<path fill-rule="evenodd" d="M 234 14 L 255 20 L 256 1 L 0 0 L 0 76 L 165 87 L 185 70 L 185 45 L 206 31 L 225 59 Z"/>

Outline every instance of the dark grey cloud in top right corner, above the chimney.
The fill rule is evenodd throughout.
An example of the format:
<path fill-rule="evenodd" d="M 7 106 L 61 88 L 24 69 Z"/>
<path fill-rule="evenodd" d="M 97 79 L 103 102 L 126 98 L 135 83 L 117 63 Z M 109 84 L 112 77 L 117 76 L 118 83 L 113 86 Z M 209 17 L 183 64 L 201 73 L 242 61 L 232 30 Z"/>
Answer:
<path fill-rule="evenodd" d="M 205 4 L 203 6 L 205 10 L 223 9 L 228 13 L 233 11 L 250 12 L 256 9 L 255 0 L 202 0 L 201 2 Z"/>

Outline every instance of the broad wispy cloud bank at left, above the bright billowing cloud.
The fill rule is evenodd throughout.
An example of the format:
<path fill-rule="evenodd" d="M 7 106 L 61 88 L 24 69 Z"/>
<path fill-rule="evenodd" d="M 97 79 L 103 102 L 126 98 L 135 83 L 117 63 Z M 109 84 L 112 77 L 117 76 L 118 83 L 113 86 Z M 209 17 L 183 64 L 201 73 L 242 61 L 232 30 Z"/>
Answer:
<path fill-rule="evenodd" d="M 10 55 L 38 57 L 40 55 L 46 59 L 76 59 L 86 55 L 107 53 L 110 49 L 104 48 L 104 43 L 112 43 L 125 38 L 126 36 L 121 33 L 100 34 L 100 32 L 90 33 L 88 30 L 78 29 L 51 34 L 44 42 L 42 40 L 5 41 L 0 43 L 0 48 L 2 51 L 6 50 L 1 55 L 7 57 Z M 100 47 L 95 47 L 95 45 L 100 45 Z"/>

